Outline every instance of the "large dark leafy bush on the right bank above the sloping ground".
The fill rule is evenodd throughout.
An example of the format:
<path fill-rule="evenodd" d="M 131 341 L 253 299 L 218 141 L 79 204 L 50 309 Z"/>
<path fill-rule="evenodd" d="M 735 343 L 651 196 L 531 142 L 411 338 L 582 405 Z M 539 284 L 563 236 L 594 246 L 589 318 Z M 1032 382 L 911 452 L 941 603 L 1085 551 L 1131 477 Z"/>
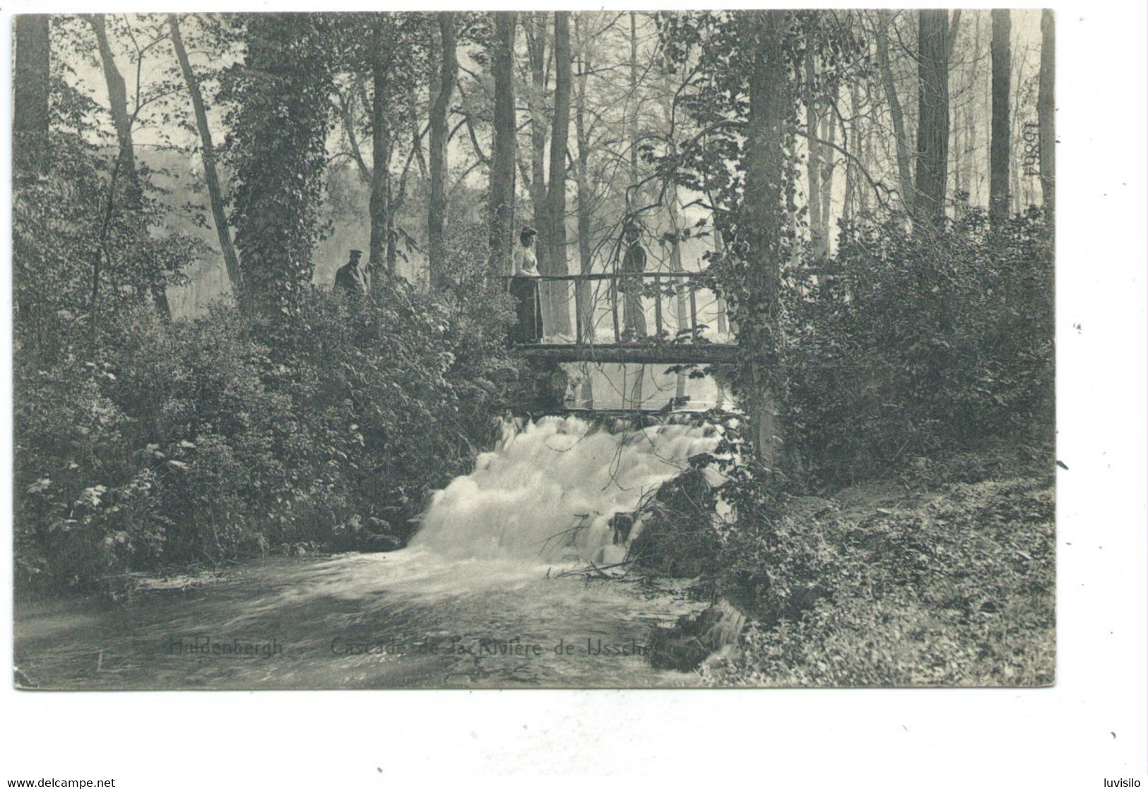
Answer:
<path fill-rule="evenodd" d="M 809 470 L 863 478 L 940 447 L 1050 435 L 1052 264 L 1037 209 L 939 237 L 846 226 L 837 273 L 788 291 L 792 433 Z"/>

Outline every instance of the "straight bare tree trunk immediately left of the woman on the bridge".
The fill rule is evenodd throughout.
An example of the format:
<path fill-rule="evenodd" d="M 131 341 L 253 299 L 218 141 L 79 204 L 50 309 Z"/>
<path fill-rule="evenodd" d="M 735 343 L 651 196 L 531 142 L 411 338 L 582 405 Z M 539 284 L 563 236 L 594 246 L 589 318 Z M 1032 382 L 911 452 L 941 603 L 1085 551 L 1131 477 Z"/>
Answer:
<path fill-rule="evenodd" d="M 515 11 L 495 13 L 491 69 L 495 77 L 494 149 L 490 161 L 490 273 L 513 273 L 514 157 L 518 138 L 514 107 Z"/>

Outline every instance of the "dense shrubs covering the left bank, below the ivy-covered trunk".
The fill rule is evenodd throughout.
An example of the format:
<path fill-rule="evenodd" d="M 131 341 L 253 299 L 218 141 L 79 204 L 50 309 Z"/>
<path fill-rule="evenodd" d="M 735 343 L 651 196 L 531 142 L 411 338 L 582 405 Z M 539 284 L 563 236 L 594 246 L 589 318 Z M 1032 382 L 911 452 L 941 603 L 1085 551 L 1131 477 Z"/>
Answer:
<path fill-rule="evenodd" d="M 505 317 L 473 285 L 460 302 L 389 283 L 371 300 L 309 289 L 289 324 L 125 314 L 95 361 L 18 376 L 21 577 L 402 544 L 514 385 Z"/>

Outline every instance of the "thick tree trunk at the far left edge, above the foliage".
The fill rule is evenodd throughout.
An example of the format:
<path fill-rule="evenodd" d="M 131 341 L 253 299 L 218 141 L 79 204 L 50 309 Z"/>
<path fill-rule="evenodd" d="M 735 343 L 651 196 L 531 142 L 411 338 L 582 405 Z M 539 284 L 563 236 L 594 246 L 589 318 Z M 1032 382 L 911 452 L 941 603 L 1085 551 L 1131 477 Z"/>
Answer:
<path fill-rule="evenodd" d="M 13 170 L 34 180 L 48 170 L 48 79 L 52 46 L 46 14 L 16 17 L 16 65 L 13 80 Z"/>

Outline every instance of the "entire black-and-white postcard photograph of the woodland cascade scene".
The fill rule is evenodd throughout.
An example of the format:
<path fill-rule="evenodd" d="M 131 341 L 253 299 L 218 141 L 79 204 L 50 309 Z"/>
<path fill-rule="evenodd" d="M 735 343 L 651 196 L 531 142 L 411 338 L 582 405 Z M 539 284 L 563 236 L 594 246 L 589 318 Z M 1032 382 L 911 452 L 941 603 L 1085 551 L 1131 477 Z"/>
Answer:
<path fill-rule="evenodd" d="M 1063 681 L 1079 8 L 38 10 L 21 698 Z"/>

